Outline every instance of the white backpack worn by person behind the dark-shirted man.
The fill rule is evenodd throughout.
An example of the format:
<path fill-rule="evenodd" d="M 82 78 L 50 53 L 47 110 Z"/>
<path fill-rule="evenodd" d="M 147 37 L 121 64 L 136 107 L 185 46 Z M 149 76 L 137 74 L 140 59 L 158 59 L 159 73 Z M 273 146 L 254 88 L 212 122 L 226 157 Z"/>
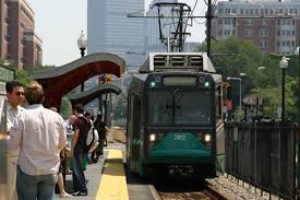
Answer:
<path fill-rule="evenodd" d="M 92 122 L 89 122 L 88 119 L 84 118 L 87 122 L 87 127 L 91 127 L 85 136 L 85 152 L 92 153 L 96 148 L 99 145 L 99 134 L 97 129 L 93 126 Z"/>

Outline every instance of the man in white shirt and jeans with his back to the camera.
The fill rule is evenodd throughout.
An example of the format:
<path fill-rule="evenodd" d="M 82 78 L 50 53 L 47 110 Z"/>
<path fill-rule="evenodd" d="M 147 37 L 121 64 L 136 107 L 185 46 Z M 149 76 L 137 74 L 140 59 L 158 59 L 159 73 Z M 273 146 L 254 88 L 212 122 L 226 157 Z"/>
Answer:
<path fill-rule="evenodd" d="M 53 200 L 60 151 L 67 144 L 62 117 L 45 108 L 41 85 L 33 81 L 25 91 L 28 107 L 11 127 L 9 150 L 20 148 L 16 190 L 19 200 Z"/>

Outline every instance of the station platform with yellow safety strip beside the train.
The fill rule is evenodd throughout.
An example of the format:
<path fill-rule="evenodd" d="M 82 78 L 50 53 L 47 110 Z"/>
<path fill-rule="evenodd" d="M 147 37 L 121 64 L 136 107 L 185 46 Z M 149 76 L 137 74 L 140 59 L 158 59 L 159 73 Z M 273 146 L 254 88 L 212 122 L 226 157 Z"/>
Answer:
<path fill-rule="evenodd" d="M 85 177 L 87 180 L 87 196 L 73 196 L 70 198 L 56 199 L 79 199 L 79 200 L 129 200 L 127 177 L 123 166 L 124 144 L 109 144 L 104 150 L 104 157 L 98 163 L 88 164 Z M 72 175 L 65 177 L 65 190 L 69 193 L 72 189 Z"/>

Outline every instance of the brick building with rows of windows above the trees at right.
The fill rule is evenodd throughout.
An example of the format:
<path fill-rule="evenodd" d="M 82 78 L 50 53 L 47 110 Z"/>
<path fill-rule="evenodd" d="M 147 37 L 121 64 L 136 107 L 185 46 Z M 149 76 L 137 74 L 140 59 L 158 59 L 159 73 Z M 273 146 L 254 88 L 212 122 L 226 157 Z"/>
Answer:
<path fill-rule="evenodd" d="M 214 14 L 212 35 L 218 40 L 235 35 L 283 54 L 295 52 L 300 42 L 299 0 L 219 1 Z"/>

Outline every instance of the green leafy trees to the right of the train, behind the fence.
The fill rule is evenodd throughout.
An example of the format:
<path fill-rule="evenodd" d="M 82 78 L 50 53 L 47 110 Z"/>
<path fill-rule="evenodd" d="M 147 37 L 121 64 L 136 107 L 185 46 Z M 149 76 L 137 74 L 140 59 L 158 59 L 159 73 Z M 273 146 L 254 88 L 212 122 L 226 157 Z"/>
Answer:
<path fill-rule="evenodd" d="M 206 44 L 199 47 L 200 51 L 206 51 Z M 219 69 L 224 81 L 228 77 L 242 79 L 242 96 L 260 91 L 264 99 L 264 115 L 277 118 L 277 108 L 281 99 L 281 70 L 279 61 L 283 55 L 265 54 L 250 40 L 242 40 L 230 36 L 225 40 L 212 43 L 212 62 Z M 287 55 L 290 58 L 286 77 L 286 116 L 297 118 L 297 78 L 298 55 Z M 259 70 L 259 67 L 265 67 Z M 239 82 L 230 81 L 232 85 L 233 104 L 239 105 Z M 238 106 L 236 106 L 238 108 Z"/>

